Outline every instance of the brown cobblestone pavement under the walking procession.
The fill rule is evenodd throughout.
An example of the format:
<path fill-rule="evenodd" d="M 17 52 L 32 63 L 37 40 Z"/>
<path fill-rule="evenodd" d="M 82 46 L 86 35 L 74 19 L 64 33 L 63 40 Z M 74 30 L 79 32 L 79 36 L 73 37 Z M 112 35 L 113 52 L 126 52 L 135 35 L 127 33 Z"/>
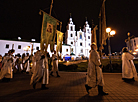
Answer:
<path fill-rule="evenodd" d="M 55 74 L 55 73 L 54 73 Z M 0 102 L 138 102 L 138 79 L 122 81 L 121 73 L 104 73 L 104 91 L 98 96 L 97 88 L 85 90 L 86 72 L 59 72 L 59 78 L 50 77 L 49 89 L 41 90 L 41 83 L 33 89 L 30 75 L 15 74 L 10 82 L 0 82 Z"/>

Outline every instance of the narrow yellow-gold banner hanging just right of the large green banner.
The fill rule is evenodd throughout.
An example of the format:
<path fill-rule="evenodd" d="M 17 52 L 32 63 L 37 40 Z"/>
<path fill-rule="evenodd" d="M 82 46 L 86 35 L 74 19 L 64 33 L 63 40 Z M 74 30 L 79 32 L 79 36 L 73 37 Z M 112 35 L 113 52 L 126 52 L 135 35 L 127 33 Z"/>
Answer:
<path fill-rule="evenodd" d="M 57 52 L 62 49 L 63 34 L 64 33 L 57 30 Z"/>

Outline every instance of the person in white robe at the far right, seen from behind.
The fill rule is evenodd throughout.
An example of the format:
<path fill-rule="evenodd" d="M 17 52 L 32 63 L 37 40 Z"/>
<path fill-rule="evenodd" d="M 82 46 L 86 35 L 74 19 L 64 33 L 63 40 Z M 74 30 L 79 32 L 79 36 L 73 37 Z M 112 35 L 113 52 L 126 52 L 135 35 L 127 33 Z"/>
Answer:
<path fill-rule="evenodd" d="M 135 81 L 137 71 L 133 62 L 134 56 L 128 52 L 128 48 L 122 49 L 122 79 L 124 81 Z"/>

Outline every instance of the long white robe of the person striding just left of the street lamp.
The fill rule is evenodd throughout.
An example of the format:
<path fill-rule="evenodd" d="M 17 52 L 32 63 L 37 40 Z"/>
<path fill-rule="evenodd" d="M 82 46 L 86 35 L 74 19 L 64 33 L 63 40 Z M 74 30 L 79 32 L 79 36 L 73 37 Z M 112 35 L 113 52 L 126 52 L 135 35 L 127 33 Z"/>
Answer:
<path fill-rule="evenodd" d="M 103 86 L 103 74 L 99 53 L 95 50 L 91 50 L 87 69 L 86 84 L 90 87 L 96 87 L 97 85 Z"/>

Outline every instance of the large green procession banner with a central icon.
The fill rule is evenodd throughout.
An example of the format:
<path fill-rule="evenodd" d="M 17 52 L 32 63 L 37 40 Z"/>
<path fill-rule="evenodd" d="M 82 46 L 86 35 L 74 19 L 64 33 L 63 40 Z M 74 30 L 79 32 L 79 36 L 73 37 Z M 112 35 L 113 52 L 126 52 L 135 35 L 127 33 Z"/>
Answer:
<path fill-rule="evenodd" d="M 57 20 L 47 13 L 43 13 L 42 31 L 41 31 L 41 49 L 47 50 L 50 44 L 50 50 L 53 52 L 55 44 L 55 36 L 57 29 Z M 44 47 L 45 44 L 45 47 Z"/>

